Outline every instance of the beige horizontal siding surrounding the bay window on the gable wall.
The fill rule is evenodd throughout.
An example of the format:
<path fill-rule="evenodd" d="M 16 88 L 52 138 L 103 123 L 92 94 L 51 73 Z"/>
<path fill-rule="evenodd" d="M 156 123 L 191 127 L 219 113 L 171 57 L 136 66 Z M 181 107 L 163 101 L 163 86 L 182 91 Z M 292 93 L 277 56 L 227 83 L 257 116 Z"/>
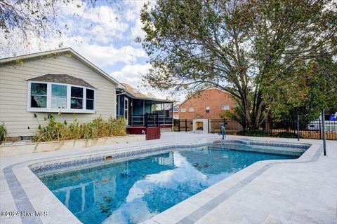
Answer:
<path fill-rule="evenodd" d="M 25 60 L 23 64 L 11 63 L 0 65 L 0 123 L 4 122 L 9 137 L 30 136 L 36 131 L 39 123 L 44 124 L 48 113 L 37 113 L 39 123 L 34 118 L 34 112 L 27 111 L 27 80 L 46 73 L 65 73 L 81 78 L 95 90 L 96 113 L 77 113 L 80 123 L 88 122 L 101 116 L 115 116 L 116 85 L 97 73 L 76 57 L 60 55 L 57 57 L 41 57 Z M 72 122 L 73 113 L 53 113 L 60 121 Z M 29 130 L 27 127 L 30 127 Z"/>

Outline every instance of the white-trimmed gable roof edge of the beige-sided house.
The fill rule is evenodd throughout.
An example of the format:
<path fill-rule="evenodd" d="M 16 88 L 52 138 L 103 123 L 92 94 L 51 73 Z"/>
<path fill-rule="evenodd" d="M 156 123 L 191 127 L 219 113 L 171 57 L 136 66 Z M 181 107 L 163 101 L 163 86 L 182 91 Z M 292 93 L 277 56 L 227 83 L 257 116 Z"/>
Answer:
<path fill-rule="evenodd" d="M 74 57 L 76 57 L 77 59 L 79 59 L 79 61 L 83 62 L 84 64 L 86 64 L 87 66 L 89 66 L 91 69 L 93 69 L 94 71 L 96 71 L 97 73 L 99 73 L 101 76 L 107 78 L 107 80 L 110 80 L 110 82 L 112 82 L 115 85 L 117 85 L 117 88 L 124 89 L 124 85 L 121 85 L 121 83 L 119 83 L 119 81 L 117 81 L 116 79 L 114 79 L 111 76 L 109 76 L 107 73 L 105 73 L 105 71 L 103 71 L 102 69 L 98 68 L 98 66 L 95 66 L 95 64 L 89 62 L 88 59 L 86 59 L 83 56 L 79 55 L 79 53 L 76 52 L 76 51 L 74 51 L 74 50 L 72 50 L 72 48 L 62 48 L 62 49 L 57 49 L 57 50 L 48 50 L 48 51 L 44 51 L 44 52 L 32 53 L 32 54 L 29 54 L 29 55 L 20 55 L 20 56 L 15 56 L 15 57 L 6 57 L 6 58 L 0 59 L 0 65 L 1 64 L 11 63 L 11 62 L 18 62 L 18 61 L 26 60 L 26 59 L 34 59 L 34 58 L 46 57 L 46 56 L 57 56 L 57 55 L 64 55 L 64 54 L 71 54 L 71 55 L 73 55 Z"/>

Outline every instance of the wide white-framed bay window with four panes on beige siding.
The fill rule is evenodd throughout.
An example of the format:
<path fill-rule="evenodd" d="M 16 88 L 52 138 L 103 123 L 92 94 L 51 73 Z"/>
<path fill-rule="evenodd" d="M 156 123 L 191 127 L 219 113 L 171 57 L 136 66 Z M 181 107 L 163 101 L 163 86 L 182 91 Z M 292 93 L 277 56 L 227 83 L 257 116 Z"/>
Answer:
<path fill-rule="evenodd" d="M 29 81 L 28 111 L 95 113 L 95 90 L 63 83 Z"/>

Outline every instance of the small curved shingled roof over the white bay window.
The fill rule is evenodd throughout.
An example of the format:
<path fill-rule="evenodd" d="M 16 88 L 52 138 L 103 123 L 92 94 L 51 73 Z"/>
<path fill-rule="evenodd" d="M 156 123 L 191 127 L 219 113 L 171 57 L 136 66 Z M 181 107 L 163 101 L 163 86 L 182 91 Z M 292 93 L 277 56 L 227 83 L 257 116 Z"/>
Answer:
<path fill-rule="evenodd" d="M 84 87 L 95 88 L 85 80 L 81 78 L 76 78 L 67 74 L 46 74 L 43 76 L 37 76 L 27 79 L 29 81 L 42 81 L 42 82 L 52 82 L 52 83 L 65 83 L 71 85 L 80 85 Z"/>

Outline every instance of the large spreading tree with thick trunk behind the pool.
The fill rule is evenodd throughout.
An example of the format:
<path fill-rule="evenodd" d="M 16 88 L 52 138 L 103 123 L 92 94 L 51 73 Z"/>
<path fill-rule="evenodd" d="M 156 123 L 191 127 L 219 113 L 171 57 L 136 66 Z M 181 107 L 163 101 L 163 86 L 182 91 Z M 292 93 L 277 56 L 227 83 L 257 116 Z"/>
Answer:
<path fill-rule="evenodd" d="M 224 88 L 239 104 L 237 120 L 258 128 L 280 77 L 289 97 L 308 93 L 286 71 L 336 55 L 336 8 L 333 0 L 158 0 L 141 13 L 152 64 L 145 80 L 161 90 Z"/>

